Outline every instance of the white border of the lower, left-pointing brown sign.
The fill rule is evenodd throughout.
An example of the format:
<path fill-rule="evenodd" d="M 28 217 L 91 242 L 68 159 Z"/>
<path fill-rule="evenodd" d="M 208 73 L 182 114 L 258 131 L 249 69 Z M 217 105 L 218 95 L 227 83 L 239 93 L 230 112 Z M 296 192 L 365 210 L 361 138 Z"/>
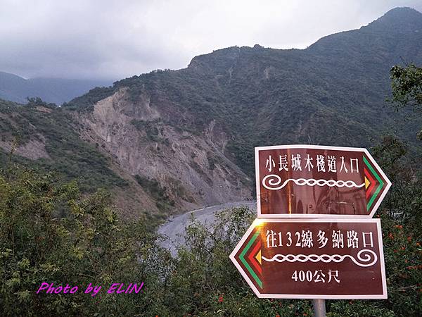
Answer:
<path fill-rule="evenodd" d="M 378 246 L 380 250 L 380 265 L 381 265 L 381 279 L 383 282 L 383 294 L 366 294 L 366 295 L 325 295 L 325 294 L 261 294 L 257 287 L 250 280 L 248 275 L 243 271 L 241 265 L 236 261 L 234 256 L 238 253 L 238 250 L 245 243 L 245 240 L 249 237 L 250 232 L 259 225 L 260 223 L 376 223 L 378 232 Z M 387 281 L 385 279 L 385 263 L 384 263 L 384 249 L 383 249 L 383 232 L 381 232 L 381 219 L 344 219 L 344 218 L 319 218 L 319 219 L 274 219 L 274 218 L 256 218 L 252 225 L 248 228 L 245 235 L 243 235 L 241 241 L 236 244 L 236 247 L 230 254 L 230 259 L 241 273 L 243 278 L 248 282 L 250 288 L 259 298 L 274 298 L 274 299 L 387 299 Z"/>

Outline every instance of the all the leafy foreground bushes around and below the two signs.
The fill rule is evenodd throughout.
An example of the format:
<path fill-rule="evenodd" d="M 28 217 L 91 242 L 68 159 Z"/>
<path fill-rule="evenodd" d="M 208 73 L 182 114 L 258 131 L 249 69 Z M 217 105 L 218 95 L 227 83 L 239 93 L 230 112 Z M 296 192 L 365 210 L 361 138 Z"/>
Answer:
<path fill-rule="evenodd" d="M 407 178 L 411 165 L 404 150 L 389 138 L 373 149 L 393 182 L 378 214 L 389 298 L 327 301 L 327 316 L 422 313 L 422 180 Z M 186 247 L 174 259 L 159 247 L 149 220 L 120 223 L 106 192 L 82 198 L 75 182 L 57 186 L 49 175 L 9 170 L 0 177 L 0 314 L 312 316 L 307 300 L 258 299 L 229 260 L 254 217 L 246 208 L 227 210 L 211 228 L 193 219 Z M 36 294 L 41 282 L 69 283 L 82 291 Z M 91 297 L 83 294 L 89 282 L 103 288 L 144 282 L 145 287 L 142 294 L 103 290 Z"/>

